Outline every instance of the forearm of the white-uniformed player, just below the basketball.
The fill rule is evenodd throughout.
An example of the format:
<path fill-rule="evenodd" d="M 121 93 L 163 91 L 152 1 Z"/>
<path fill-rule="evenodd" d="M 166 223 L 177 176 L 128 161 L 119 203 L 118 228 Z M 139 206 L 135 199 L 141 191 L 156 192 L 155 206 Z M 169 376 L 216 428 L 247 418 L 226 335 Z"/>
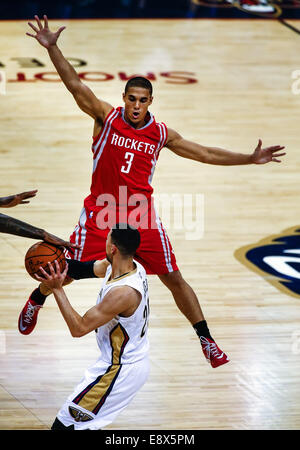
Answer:
<path fill-rule="evenodd" d="M 77 311 L 72 307 L 71 303 L 66 296 L 63 288 L 53 289 L 53 295 L 55 297 L 56 303 L 60 309 L 60 312 L 68 325 L 70 333 L 73 337 L 81 337 L 85 333 L 82 331 L 82 317 Z"/>

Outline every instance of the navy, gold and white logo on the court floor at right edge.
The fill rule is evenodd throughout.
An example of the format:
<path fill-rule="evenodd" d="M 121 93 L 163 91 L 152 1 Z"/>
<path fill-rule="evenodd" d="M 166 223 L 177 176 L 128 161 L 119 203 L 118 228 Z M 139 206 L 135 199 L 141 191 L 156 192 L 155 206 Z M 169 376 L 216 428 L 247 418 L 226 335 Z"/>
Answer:
<path fill-rule="evenodd" d="M 280 291 L 300 297 L 300 226 L 238 249 L 234 256 Z"/>

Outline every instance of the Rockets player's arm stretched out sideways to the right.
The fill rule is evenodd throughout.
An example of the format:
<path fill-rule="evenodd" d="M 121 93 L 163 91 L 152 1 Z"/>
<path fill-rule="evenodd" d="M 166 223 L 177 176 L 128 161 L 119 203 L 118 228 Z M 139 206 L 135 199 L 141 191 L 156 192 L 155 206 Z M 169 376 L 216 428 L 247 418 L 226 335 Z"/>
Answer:
<path fill-rule="evenodd" d="M 281 145 L 262 148 L 259 139 L 258 145 L 251 154 L 235 153 L 229 150 L 216 147 L 205 147 L 195 142 L 187 141 L 176 131 L 168 130 L 168 140 L 166 147 L 183 158 L 193 159 L 206 164 L 221 166 L 234 166 L 244 164 L 266 164 L 268 162 L 281 162 L 278 159 L 284 156 Z"/>

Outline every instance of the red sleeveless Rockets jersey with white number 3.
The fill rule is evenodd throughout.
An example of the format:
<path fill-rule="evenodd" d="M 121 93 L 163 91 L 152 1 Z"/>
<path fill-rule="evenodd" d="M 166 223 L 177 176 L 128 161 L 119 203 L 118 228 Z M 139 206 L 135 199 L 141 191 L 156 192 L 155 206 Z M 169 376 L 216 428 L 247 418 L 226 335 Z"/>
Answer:
<path fill-rule="evenodd" d="M 168 134 L 164 123 L 156 122 L 150 112 L 148 116 L 146 125 L 135 129 L 125 121 L 124 108 L 114 108 L 108 114 L 99 135 L 93 138 L 93 175 L 86 207 L 101 204 L 99 196 L 113 196 L 117 206 L 134 194 L 150 199 L 155 165 Z"/>

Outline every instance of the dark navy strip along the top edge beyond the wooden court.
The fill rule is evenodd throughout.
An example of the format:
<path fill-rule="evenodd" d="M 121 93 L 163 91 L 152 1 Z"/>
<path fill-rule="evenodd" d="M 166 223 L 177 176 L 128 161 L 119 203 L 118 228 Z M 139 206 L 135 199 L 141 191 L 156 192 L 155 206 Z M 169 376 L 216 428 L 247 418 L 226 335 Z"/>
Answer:
<path fill-rule="evenodd" d="M 14 0 L 2 1 L 0 20 L 49 18 L 300 18 L 300 0 Z"/>

